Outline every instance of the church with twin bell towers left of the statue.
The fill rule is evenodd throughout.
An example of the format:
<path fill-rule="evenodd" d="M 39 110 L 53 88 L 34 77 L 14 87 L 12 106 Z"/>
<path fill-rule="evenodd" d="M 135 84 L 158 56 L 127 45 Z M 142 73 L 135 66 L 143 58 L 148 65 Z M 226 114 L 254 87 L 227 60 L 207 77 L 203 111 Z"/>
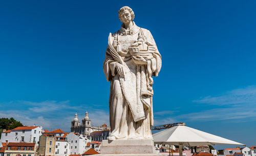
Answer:
<path fill-rule="evenodd" d="M 86 112 L 86 116 L 82 119 L 82 122 L 77 118 L 77 113 L 75 114 L 75 118 L 71 121 L 71 132 L 80 133 L 81 135 L 90 136 L 93 131 L 101 131 L 104 130 L 106 125 L 95 127 L 91 126 L 91 119 L 88 116 L 88 112 Z"/>

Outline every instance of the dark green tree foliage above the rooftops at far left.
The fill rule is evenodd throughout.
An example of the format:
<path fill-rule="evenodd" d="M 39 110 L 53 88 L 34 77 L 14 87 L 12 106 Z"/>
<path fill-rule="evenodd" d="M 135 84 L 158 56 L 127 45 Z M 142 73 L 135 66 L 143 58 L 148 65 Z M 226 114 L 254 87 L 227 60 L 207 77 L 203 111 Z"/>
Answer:
<path fill-rule="evenodd" d="M 14 118 L 0 118 L 0 139 L 4 129 L 10 130 L 20 126 L 23 126 L 23 124 L 19 121 L 16 121 Z"/>

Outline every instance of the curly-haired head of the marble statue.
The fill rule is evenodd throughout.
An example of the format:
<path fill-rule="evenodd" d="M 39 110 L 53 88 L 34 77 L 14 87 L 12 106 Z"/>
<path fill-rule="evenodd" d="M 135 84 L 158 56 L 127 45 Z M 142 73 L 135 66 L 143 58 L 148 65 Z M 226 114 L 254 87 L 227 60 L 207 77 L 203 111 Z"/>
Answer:
<path fill-rule="evenodd" d="M 118 17 L 121 20 L 122 23 L 127 23 L 130 21 L 133 21 L 134 19 L 134 12 L 130 7 L 122 7 L 121 9 L 119 9 L 118 11 Z"/>

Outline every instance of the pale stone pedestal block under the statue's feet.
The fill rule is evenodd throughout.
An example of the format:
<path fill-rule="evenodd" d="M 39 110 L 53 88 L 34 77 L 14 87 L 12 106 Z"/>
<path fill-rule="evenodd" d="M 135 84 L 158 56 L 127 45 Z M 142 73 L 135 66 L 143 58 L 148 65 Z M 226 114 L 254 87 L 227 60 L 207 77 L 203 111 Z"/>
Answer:
<path fill-rule="evenodd" d="M 156 154 L 153 140 L 150 139 L 130 139 L 130 140 L 103 140 L 100 154 L 97 156 L 128 156 L 128 155 L 158 155 Z"/>

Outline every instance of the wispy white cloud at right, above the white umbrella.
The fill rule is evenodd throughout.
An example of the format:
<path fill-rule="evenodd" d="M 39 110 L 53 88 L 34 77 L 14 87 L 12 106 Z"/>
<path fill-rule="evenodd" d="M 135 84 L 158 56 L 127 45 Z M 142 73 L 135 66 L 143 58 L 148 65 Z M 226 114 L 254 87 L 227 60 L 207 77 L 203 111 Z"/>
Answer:
<path fill-rule="evenodd" d="M 193 102 L 219 105 L 221 108 L 183 114 L 177 116 L 177 118 L 187 119 L 188 121 L 252 121 L 256 118 L 256 85 L 232 90 L 218 96 L 207 96 Z"/>

